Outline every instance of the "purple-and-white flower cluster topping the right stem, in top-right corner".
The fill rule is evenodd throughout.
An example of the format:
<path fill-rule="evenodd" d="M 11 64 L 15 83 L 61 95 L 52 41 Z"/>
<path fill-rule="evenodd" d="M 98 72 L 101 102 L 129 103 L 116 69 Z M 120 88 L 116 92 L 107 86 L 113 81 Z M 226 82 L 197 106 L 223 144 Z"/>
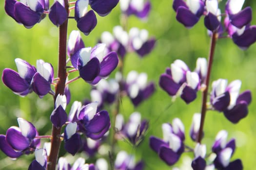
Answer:
<path fill-rule="evenodd" d="M 251 7 L 241 10 L 243 3 L 244 0 L 227 0 L 223 25 L 234 43 L 241 49 L 246 49 L 256 42 L 256 26 L 250 25 Z M 224 32 L 218 0 L 174 0 L 173 8 L 177 13 L 177 20 L 187 28 L 193 27 L 204 15 L 204 25 L 208 30 L 218 32 L 219 35 Z"/>

